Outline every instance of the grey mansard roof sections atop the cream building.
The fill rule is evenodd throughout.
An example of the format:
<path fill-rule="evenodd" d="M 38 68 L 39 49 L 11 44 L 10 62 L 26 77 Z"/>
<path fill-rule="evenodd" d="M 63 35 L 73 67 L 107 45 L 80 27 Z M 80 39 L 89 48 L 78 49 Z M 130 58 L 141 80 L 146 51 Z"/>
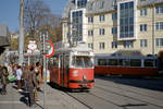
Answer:
<path fill-rule="evenodd" d="M 122 0 L 89 0 L 86 5 L 86 14 L 96 14 L 108 11 L 114 11 L 114 5 Z M 149 4 L 163 3 L 163 0 L 136 0 L 138 1 L 138 7 L 145 7 Z M 71 10 L 75 9 L 75 4 L 72 3 L 72 0 L 67 1 L 67 4 L 64 8 L 62 17 L 70 17 Z"/>

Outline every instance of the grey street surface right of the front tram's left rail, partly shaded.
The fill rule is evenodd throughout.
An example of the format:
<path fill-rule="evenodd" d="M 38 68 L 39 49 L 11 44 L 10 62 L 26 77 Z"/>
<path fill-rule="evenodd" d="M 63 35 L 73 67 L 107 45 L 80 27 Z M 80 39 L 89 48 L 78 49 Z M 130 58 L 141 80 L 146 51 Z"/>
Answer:
<path fill-rule="evenodd" d="M 163 80 L 96 76 L 89 93 L 70 95 L 90 109 L 163 109 Z"/>

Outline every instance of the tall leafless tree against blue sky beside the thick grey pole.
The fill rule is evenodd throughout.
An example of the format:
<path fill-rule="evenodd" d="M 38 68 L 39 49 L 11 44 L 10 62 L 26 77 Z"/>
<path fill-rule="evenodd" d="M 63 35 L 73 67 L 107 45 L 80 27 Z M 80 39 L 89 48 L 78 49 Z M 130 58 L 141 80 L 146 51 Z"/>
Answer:
<path fill-rule="evenodd" d="M 35 37 L 36 32 L 46 24 L 46 20 L 51 13 L 42 0 L 26 0 L 24 14 L 25 31 Z"/>

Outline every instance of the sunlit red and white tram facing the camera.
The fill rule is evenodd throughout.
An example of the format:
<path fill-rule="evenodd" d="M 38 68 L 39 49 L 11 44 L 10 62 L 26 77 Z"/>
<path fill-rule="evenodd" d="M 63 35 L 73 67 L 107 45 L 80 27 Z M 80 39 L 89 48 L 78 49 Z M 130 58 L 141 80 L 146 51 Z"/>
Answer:
<path fill-rule="evenodd" d="M 55 50 L 49 70 L 50 82 L 61 87 L 88 89 L 95 85 L 93 52 L 85 45 Z"/>

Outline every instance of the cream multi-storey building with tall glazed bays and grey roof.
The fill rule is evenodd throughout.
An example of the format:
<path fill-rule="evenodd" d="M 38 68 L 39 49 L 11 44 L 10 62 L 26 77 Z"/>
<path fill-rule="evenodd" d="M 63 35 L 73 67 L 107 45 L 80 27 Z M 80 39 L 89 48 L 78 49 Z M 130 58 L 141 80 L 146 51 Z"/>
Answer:
<path fill-rule="evenodd" d="M 68 0 L 63 43 L 85 41 L 95 53 L 163 50 L 163 0 Z"/>

